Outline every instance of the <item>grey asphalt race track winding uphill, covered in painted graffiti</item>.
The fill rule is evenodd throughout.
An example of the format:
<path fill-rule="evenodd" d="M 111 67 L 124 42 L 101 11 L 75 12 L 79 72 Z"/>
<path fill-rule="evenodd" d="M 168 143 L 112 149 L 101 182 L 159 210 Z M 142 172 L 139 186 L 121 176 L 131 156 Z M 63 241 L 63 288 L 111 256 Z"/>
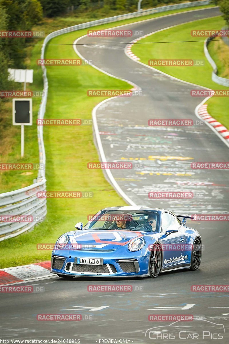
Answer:
<path fill-rule="evenodd" d="M 217 8 L 170 15 L 128 25 L 145 34 L 187 21 L 219 15 Z M 112 26 L 112 25 L 111 25 Z M 125 28 L 125 26 L 123 26 Z M 96 67 L 137 84 L 142 96 L 119 97 L 101 105 L 96 113 L 107 161 L 144 158 L 144 168 L 113 171 L 113 176 L 128 197 L 138 205 L 163 207 L 174 213 L 225 214 L 228 209 L 228 172 L 191 170 L 192 161 L 227 161 L 228 147 L 206 125 L 193 127 L 148 127 L 150 118 L 193 119 L 195 107 L 203 98 L 190 96 L 197 88 L 141 66 L 124 54 L 131 37 L 84 37 L 78 41 L 80 54 Z M 153 36 L 152 36 L 153 41 Z M 88 45 L 88 44 L 94 44 Z M 116 45 L 101 45 L 117 43 Z M 168 48 L 169 49 L 169 48 Z M 191 49 L 191 46 L 188 46 Z M 150 56 L 149 56 L 150 58 Z M 201 68 L 201 67 L 200 67 Z M 166 156 L 167 159 L 160 157 Z M 151 158 L 149 158 L 151 157 Z M 176 158 L 171 158 L 176 157 Z M 182 160 L 182 157 L 188 159 Z M 125 159 L 121 159 L 125 158 Z M 165 175 L 169 172 L 170 175 Z M 140 174 L 139 174 L 140 173 Z M 182 173 L 181 175 L 177 175 Z M 191 174 L 192 173 L 192 174 Z M 203 194 L 180 201 L 153 201 L 150 191 L 192 191 Z M 109 206 L 109 205 L 108 205 Z M 118 205 L 117 205 L 118 206 Z M 99 209 L 98 209 L 99 210 Z M 125 343 L 228 343 L 228 293 L 192 292 L 193 284 L 228 284 L 228 223 L 189 223 L 199 230 L 205 249 L 201 269 L 162 273 L 156 279 L 92 279 L 77 277 L 65 281 L 54 277 L 22 285 L 43 286 L 45 292 L 1 294 L 1 339 L 75 339 L 80 343 L 107 343 L 101 340 L 126 340 Z M 131 292 L 88 292 L 91 284 L 124 284 Z M 103 308 L 104 307 L 104 308 Z M 158 309 L 159 307 L 159 309 Z M 172 307 L 172 308 L 170 308 Z M 161 308 L 161 309 L 160 309 Z M 83 320 L 37 321 L 37 314 L 77 313 Z M 176 323 L 150 322 L 149 314 L 192 314 L 203 320 Z M 85 319 L 87 318 L 87 320 Z M 85 320 L 84 320 L 85 319 Z M 158 327 L 159 326 L 159 327 Z M 182 332 L 179 338 L 179 332 Z M 155 333 L 149 331 L 157 327 Z M 206 331 L 202 338 L 203 331 Z M 171 337 L 171 333 L 176 339 Z M 191 333 L 190 339 L 185 339 Z M 193 333 L 196 335 L 194 336 Z M 199 337 L 197 336 L 199 334 Z M 167 338 L 165 337 L 167 335 Z M 216 339 L 220 336 L 222 339 Z M 214 339 L 211 339 L 214 338 Z M 121 342 L 120 342 L 121 343 Z"/>

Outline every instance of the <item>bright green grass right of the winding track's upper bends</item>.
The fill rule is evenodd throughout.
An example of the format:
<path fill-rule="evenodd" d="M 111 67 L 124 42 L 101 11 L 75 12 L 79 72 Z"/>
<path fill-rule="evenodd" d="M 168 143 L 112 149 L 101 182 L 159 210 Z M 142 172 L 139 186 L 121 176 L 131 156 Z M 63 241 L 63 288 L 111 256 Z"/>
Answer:
<path fill-rule="evenodd" d="M 174 28 L 155 33 L 140 41 L 140 43 L 160 43 L 136 43 L 133 45 L 132 51 L 135 55 L 137 55 L 140 58 L 140 61 L 145 64 L 148 64 L 148 60 L 157 58 L 204 60 L 204 66 L 163 66 L 155 68 L 159 69 L 164 73 L 172 75 L 181 80 L 188 81 L 190 83 L 205 86 L 211 89 L 228 89 L 228 87 L 218 85 L 211 80 L 212 67 L 208 63 L 204 55 L 204 42 L 197 42 L 198 40 L 200 40 L 200 38 L 192 37 L 190 35 L 191 30 L 215 29 L 221 28 L 224 25 L 224 20 L 221 17 L 198 20 L 192 23 L 182 24 Z M 192 42 L 190 43 L 185 41 Z M 229 98 L 212 97 L 208 100 L 207 104 L 208 111 L 211 114 L 211 116 L 220 121 L 225 127 L 229 128 L 228 111 L 226 111 L 226 109 L 229 108 Z"/>

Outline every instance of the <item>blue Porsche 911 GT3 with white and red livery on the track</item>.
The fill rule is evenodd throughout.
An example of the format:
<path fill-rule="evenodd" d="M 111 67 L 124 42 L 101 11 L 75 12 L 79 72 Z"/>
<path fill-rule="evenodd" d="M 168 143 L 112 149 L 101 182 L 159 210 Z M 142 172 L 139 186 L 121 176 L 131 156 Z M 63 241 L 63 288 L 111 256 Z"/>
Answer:
<path fill-rule="evenodd" d="M 179 218 L 182 218 L 182 222 Z M 51 272 L 66 279 L 93 277 L 157 277 L 160 272 L 197 270 L 202 240 L 186 226 L 188 215 L 146 207 L 105 208 L 83 227 L 59 237 Z"/>

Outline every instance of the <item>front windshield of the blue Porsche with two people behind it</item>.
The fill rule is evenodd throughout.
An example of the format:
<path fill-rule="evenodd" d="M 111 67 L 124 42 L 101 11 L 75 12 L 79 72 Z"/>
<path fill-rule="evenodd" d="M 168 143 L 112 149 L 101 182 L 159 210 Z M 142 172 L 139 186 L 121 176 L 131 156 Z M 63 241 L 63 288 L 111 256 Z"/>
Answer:
<path fill-rule="evenodd" d="M 158 214 L 153 211 L 100 211 L 83 229 L 137 230 L 158 232 Z"/>

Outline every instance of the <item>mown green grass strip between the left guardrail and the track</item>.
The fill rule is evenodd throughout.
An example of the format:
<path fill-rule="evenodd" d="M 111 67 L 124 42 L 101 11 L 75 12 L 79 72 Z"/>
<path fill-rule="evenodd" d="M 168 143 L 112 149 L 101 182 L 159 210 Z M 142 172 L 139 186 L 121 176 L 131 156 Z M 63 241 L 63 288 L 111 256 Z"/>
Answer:
<path fill-rule="evenodd" d="M 168 14 L 168 12 L 167 12 Z M 164 15 L 164 13 L 160 14 Z M 158 16 L 158 15 L 157 15 Z M 148 17 L 148 16 L 147 16 Z M 151 16 L 152 17 L 152 16 Z M 141 18 L 142 19 L 142 18 Z M 129 20 L 138 21 L 141 20 Z M 147 19 L 145 16 L 143 19 Z M 122 25 L 127 21 L 105 24 L 100 29 Z M 88 29 L 61 35 L 51 41 L 45 58 L 76 58 L 72 49 L 73 41 Z M 40 46 L 31 50 L 30 68 L 35 72 L 33 89 L 42 89 L 41 69 L 36 66 L 40 56 Z M 90 66 L 48 67 L 48 102 L 46 118 L 82 118 L 91 119 L 93 107 L 105 98 L 87 97 L 87 89 L 128 89 L 129 85 L 108 77 Z M 34 111 L 34 120 L 36 120 Z M 34 126 L 35 128 L 35 126 Z M 31 138 L 31 145 L 37 146 L 37 140 Z M 51 251 L 36 249 L 39 243 L 55 243 L 62 233 L 74 229 L 76 222 L 87 222 L 87 215 L 94 214 L 105 206 L 125 205 L 112 186 L 105 180 L 101 170 L 88 170 L 89 161 L 98 161 L 98 153 L 93 143 L 92 127 L 44 127 L 46 149 L 46 178 L 49 191 L 90 191 L 92 198 L 84 199 L 48 199 L 46 220 L 30 233 L 4 240 L 0 243 L 2 254 L 7 257 L 0 268 L 30 264 L 50 258 Z M 20 150 L 20 148 L 19 148 Z M 27 151 L 26 151 L 27 154 Z M 30 160 L 33 157 L 30 156 Z M 12 160 L 11 160 L 12 161 Z"/>

